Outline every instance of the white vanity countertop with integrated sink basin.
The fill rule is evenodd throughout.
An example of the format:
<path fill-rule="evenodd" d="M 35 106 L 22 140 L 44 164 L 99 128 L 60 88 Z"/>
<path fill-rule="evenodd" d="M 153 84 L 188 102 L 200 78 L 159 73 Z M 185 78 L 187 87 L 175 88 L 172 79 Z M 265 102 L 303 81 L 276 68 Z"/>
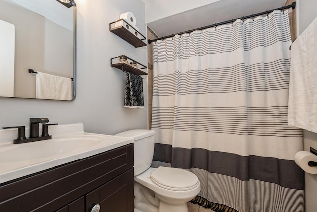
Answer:
<path fill-rule="evenodd" d="M 16 129 L 0 130 L 0 184 L 134 141 L 83 129 L 83 124 L 54 125 L 49 129 L 52 139 L 23 144 L 13 144 Z"/>

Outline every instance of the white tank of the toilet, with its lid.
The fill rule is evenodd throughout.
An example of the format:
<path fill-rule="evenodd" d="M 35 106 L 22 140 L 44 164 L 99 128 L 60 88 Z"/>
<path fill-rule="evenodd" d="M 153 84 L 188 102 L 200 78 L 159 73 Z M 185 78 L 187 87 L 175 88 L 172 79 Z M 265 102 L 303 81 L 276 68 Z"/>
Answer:
<path fill-rule="evenodd" d="M 134 176 L 141 174 L 151 166 L 154 153 L 153 130 L 135 129 L 115 135 L 134 139 Z"/>

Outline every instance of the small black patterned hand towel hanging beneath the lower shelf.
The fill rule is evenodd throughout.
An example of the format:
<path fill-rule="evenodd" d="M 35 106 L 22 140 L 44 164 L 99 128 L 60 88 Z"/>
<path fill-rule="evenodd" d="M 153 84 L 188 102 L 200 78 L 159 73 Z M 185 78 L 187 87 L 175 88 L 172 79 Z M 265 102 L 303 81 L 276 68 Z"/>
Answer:
<path fill-rule="evenodd" d="M 142 77 L 127 73 L 124 106 L 129 108 L 144 108 Z"/>

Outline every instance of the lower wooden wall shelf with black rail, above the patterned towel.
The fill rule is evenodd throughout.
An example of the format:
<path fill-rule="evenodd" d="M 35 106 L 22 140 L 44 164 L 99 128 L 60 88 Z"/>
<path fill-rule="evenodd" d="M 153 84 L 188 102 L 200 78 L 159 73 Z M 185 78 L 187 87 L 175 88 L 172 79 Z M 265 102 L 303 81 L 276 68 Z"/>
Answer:
<path fill-rule="evenodd" d="M 125 55 L 111 58 L 110 62 L 111 67 L 115 67 L 117 69 L 120 69 L 121 71 L 133 73 L 136 75 L 148 75 L 148 73 L 143 71 L 143 69 L 147 68 L 145 65 L 142 65 L 141 63 Z"/>

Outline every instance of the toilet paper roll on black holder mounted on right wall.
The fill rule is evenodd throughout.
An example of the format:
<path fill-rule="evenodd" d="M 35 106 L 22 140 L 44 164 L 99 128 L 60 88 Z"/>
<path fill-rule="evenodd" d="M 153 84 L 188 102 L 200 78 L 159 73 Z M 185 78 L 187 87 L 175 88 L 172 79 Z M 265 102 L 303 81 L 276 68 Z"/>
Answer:
<path fill-rule="evenodd" d="M 317 162 L 317 156 L 308 151 L 299 151 L 294 158 L 296 164 L 309 174 L 317 174 L 317 167 L 311 167 L 308 162 Z"/>

